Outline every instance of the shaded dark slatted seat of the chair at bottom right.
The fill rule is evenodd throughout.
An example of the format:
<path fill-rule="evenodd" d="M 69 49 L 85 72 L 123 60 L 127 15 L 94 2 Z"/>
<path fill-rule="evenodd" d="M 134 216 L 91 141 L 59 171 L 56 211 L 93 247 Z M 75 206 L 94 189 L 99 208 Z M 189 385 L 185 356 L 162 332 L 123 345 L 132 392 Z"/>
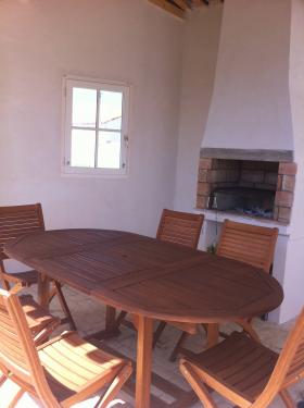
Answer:
<path fill-rule="evenodd" d="M 264 391 L 277 363 L 278 355 L 249 338 L 244 333 L 235 332 L 217 346 L 210 348 L 188 361 L 198 368 L 205 383 L 208 376 L 253 403 Z M 203 372 L 202 372 L 202 371 Z M 218 391 L 214 381 L 212 387 Z"/>

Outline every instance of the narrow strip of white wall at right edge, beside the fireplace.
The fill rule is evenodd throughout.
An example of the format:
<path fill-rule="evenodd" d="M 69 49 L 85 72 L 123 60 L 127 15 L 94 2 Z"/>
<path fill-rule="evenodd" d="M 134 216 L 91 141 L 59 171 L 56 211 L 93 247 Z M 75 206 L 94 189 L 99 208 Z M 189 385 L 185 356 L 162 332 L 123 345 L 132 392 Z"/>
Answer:
<path fill-rule="evenodd" d="M 287 248 L 284 301 L 280 321 L 293 318 L 304 306 L 304 3 L 291 0 L 290 99 L 297 174 Z"/>

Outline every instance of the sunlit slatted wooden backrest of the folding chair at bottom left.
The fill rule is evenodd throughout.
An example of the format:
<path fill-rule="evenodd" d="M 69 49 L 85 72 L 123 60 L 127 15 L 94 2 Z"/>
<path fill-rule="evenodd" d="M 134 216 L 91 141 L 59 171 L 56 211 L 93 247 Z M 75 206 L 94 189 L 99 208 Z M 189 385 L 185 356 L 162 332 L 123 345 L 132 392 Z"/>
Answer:
<path fill-rule="evenodd" d="M 17 295 L 0 289 L 0 367 L 12 380 L 33 390 L 42 400 L 54 399 L 41 367 L 26 318 Z"/>

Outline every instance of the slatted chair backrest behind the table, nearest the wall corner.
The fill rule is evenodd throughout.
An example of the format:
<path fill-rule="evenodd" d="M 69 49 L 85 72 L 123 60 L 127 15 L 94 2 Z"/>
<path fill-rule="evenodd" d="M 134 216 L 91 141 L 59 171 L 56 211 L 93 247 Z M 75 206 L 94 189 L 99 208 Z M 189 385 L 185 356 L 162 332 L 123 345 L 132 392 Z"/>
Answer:
<path fill-rule="evenodd" d="M 164 209 L 156 238 L 197 249 L 203 221 L 203 214 Z"/>

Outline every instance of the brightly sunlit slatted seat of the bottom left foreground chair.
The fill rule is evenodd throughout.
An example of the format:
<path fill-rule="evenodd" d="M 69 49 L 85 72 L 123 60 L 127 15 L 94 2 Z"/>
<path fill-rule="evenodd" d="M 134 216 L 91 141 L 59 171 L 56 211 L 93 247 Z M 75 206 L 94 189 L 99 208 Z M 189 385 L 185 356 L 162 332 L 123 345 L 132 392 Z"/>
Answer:
<path fill-rule="evenodd" d="M 75 332 L 40 347 L 39 357 L 49 386 L 60 401 L 80 393 L 88 382 L 92 393 L 94 388 L 98 392 L 102 379 L 104 384 L 113 381 L 113 375 L 126 366 L 126 360 L 97 348 Z"/>

